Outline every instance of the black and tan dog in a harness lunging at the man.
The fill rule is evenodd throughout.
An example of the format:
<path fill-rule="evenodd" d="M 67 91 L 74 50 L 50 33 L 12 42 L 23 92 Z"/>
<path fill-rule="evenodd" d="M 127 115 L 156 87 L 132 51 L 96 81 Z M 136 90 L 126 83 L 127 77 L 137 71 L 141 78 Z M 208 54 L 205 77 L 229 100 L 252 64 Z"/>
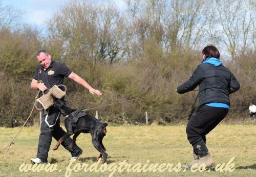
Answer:
<path fill-rule="evenodd" d="M 101 123 L 98 119 L 84 112 L 83 109 L 73 109 L 66 106 L 60 99 L 54 98 L 54 105 L 59 108 L 63 116 L 66 116 L 65 127 L 67 133 L 58 140 L 53 150 L 57 150 L 61 142 L 73 134 L 71 147 L 74 148 L 76 146 L 76 138 L 81 132 L 84 134 L 90 133 L 92 135 L 93 146 L 100 152 L 97 161 L 99 158 L 102 158 L 101 163 L 105 163 L 108 153 L 105 152 L 106 148 L 102 140 L 106 136 L 106 126 L 108 124 Z"/>

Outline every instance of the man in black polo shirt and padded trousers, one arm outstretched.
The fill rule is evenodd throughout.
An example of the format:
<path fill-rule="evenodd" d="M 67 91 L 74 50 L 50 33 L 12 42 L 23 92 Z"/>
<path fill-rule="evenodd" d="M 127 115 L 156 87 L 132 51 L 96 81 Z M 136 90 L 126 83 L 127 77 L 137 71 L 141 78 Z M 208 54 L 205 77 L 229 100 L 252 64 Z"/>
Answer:
<path fill-rule="evenodd" d="M 65 77 L 68 77 L 78 84 L 89 90 L 91 94 L 101 95 L 100 91 L 93 89 L 84 79 L 72 72 L 64 63 L 55 62 L 45 50 L 37 52 L 37 60 L 40 65 L 36 68 L 34 77 L 31 81 L 31 89 L 40 90 L 42 93 L 47 92 L 54 85 L 60 85 Z M 64 98 L 62 98 L 64 100 Z M 60 113 L 59 110 L 51 106 L 47 110 L 43 110 L 43 118 L 40 127 L 40 135 L 38 140 L 37 157 L 30 159 L 33 163 L 48 163 L 48 152 L 50 149 L 52 137 L 59 140 L 65 131 L 59 125 Z M 70 153 L 74 161 L 82 153 L 82 150 L 76 146 L 73 149 L 70 147 L 71 138 L 66 139 L 61 143 Z"/>

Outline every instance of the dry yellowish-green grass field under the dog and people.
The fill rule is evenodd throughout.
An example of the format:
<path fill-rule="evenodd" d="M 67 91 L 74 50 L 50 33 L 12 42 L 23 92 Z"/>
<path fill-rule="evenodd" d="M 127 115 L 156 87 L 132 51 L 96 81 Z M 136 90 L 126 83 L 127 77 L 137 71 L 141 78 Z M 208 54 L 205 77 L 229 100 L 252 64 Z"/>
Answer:
<path fill-rule="evenodd" d="M 233 171 L 191 172 L 190 170 L 159 172 L 148 170 L 146 172 L 122 172 L 118 169 L 119 163 L 131 164 L 131 167 L 150 167 L 150 165 L 163 166 L 167 163 L 176 165 L 187 164 L 191 161 L 192 148 L 186 140 L 185 125 L 177 126 L 108 126 L 108 132 L 103 144 L 109 154 L 105 171 L 97 166 L 98 172 L 79 169 L 84 165 L 95 165 L 99 152 L 91 143 L 91 135 L 81 134 L 77 144 L 83 149 L 83 154 L 73 164 L 69 164 L 70 153 L 62 146 L 58 150 L 49 152 L 49 162 L 55 165 L 52 172 L 45 170 L 20 172 L 21 164 L 31 164 L 30 158 L 36 157 L 39 127 L 25 127 L 20 131 L 7 153 L 0 153 L 0 176 L 256 176 L 256 128 L 255 124 L 225 125 L 220 124 L 207 136 L 207 145 L 216 164 L 225 165 L 232 157 Z M 16 136 L 20 127 L 0 127 L 0 148 L 7 146 Z M 51 147 L 56 141 L 52 141 Z M 148 164 L 147 166 L 145 166 Z M 70 165 L 70 167 L 68 167 Z M 228 165 L 227 165 L 228 166 Z M 88 167 L 88 168 L 89 168 Z M 108 167 L 108 169 L 107 169 Z M 166 166 L 165 166 L 166 167 Z M 224 169 L 223 167 L 223 169 Z M 57 169 L 56 169 L 57 168 Z M 91 166 L 92 168 L 92 166 Z M 103 167 L 101 169 L 104 169 Z M 75 171 L 71 171 L 74 169 Z M 123 168 L 119 168 L 123 169 Z M 164 169 L 164 168 L 159 168 Z M 177 169 L 179 169 L 177 167 Z M 71 171 L 72 173 L 68 173 Z M 67 173 L 66 173 L 67 172 Z"/>

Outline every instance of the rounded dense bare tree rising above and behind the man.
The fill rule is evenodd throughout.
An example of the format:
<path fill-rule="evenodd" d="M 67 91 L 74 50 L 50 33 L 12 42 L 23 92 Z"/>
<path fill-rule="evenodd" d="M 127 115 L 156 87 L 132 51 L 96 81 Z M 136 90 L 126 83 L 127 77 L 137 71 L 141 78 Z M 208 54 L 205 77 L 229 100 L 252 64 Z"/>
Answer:
<path fill-rule="evenodd" d="M 73 59 L 112 63 L 123 52 L 122 29 L 123 20 L 115 6 L 76 0 L 53 17 L 49 35 L 62 41 L 62 49 Z"/>

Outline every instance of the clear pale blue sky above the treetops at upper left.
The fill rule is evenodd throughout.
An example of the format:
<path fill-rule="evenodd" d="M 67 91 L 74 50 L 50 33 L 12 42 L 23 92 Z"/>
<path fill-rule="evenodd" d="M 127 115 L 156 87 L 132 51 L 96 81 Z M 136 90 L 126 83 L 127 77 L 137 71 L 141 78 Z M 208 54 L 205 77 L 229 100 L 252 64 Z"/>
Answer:
<path fill-rule="evenodd" d="M 1 0 L 0 0 L 1 1 Z M 72 0 L 2 0 L 2 5 L 12 6 L 25 13 L 24 20 L 32 25 L 40 27 L 47 23 L 57 10 Z M 95 3 L 115 2 L 118 8 L 122 8 L 122 0 L 94 0 Z"/>

